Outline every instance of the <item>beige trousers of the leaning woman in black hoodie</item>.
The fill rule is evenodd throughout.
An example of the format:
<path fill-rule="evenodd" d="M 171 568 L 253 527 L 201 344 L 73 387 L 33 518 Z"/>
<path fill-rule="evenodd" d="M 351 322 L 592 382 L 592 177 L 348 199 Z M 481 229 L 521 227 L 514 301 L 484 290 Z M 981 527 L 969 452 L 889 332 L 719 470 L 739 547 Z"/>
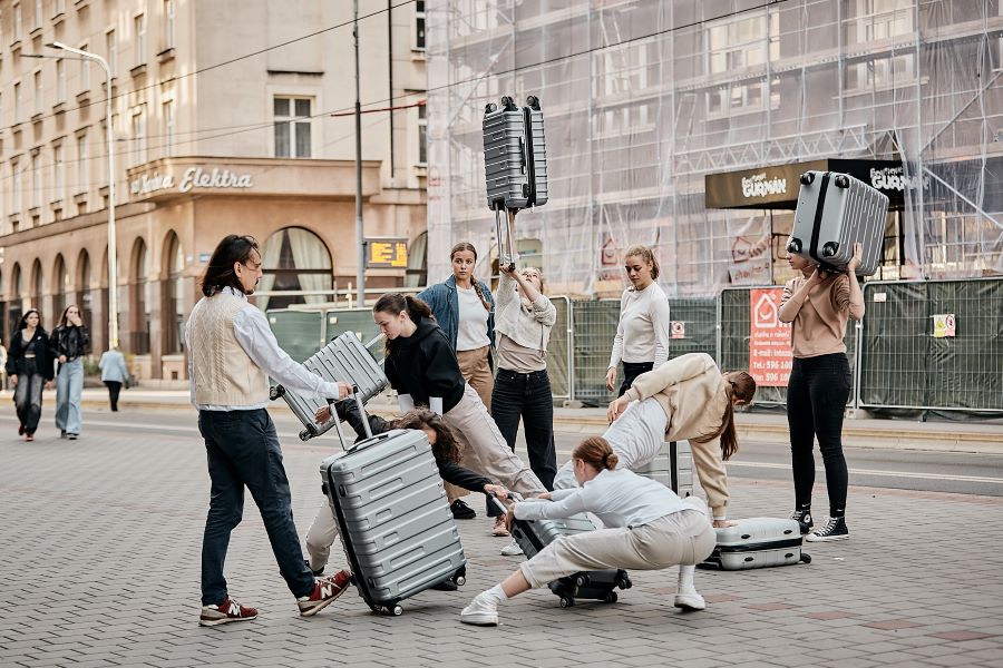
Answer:
<path fill-rule="evenodd" d="M 464 466 L 524 497 L 538 497 L 547 491 L 539 478 L 508 446 L 498 425 L 469 384 L 464 389 L 460 402 L 442 418 L 464 445 Z"/>

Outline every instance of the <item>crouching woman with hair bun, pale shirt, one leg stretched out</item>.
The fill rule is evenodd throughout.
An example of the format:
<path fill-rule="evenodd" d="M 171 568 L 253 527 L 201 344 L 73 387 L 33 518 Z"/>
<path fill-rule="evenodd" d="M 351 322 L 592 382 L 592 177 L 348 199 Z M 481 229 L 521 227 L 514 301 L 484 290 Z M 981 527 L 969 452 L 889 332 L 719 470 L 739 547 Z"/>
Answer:
<path fill-rule="evenodd" d="M 605 569 L 661 570 L 676 564 L 695 564 L 714 549 L 715 534 L 702 503 L 682 500 L 654 480 L 625 468 L 600 436 L 585 439 L 572 452 L 575 481 L 580 489 L 554 490 L 533 500 L 513 504 L 506 518 L 544 520 L 591 512 L 605 529 L 562 536 L 499 584 L 480 592 L 460 612 L 460 621 L 478 626 L 498 623 L 498 603 L 528 589 L 545 587 L 580 571 Z M 702 610 L 703 598 L 693 588 L 692 571 L 686 590 L 699 599 L 689 606 Z"/>

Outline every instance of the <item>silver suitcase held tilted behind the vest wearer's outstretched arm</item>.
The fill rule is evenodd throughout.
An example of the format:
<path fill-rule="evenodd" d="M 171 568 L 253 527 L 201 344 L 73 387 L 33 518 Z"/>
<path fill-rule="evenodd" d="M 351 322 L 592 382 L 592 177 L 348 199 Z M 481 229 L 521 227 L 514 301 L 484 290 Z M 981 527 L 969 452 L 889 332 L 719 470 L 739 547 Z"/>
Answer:
<path fill-rule="evenodd" d="M 352 383 L 359 389 L 359 395 L 363 403 L 389 385 L 382 367 L 373 358 L 368 346 L 363 345 L 353 332 L 345 332 L 332 338 L 331 343 L 303 362 L 303 366 L 325 381 Z M 324 424 L 317 423 L 313 418 L 314 413 L 319 407 L 328 405 L 328 402 L 322 399 L 301 396 L 288 391 L 282 385 L 273 386 L 270 393 L 271 400 L 275 401 L 280 396 L 285 400 L 305 428 L 300 432 L 301 441 L 309 441 L 325 433 L 338 422 L 332 419 Z"/>

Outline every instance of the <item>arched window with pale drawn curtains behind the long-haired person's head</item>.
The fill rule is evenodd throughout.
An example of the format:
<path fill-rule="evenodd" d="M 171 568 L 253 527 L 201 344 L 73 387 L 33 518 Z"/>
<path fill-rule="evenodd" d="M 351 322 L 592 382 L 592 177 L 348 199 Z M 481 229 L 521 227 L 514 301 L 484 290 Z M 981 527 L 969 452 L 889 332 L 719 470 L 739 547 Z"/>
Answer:
<path fill-rule="evenodd" d="M 286 227 L 267 238 L 261 249 L 264 276 L 257 292 L 330 291 L 333 285 L 331 254 L 319 236 L 302 227 Z M 262 310 L 290 304 L 319 304 L 330 295 L 257 297 Z"/>

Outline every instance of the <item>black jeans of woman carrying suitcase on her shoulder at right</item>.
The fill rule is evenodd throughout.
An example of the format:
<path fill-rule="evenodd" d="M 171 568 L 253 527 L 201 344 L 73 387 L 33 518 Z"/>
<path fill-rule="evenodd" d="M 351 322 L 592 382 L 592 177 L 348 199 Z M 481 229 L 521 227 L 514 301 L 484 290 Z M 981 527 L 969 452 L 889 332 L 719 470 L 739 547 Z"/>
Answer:
<path fill-rule="evenodd" d="M 811 505 L 815 485 L 815 439 L 826 466 L 829 515 L 846 512 L 848 475 L 843 455 L 843 414 L 853 380 L 844 353 L 793 360 L 787 384 L 787 423 L 797 508 Z"/>

